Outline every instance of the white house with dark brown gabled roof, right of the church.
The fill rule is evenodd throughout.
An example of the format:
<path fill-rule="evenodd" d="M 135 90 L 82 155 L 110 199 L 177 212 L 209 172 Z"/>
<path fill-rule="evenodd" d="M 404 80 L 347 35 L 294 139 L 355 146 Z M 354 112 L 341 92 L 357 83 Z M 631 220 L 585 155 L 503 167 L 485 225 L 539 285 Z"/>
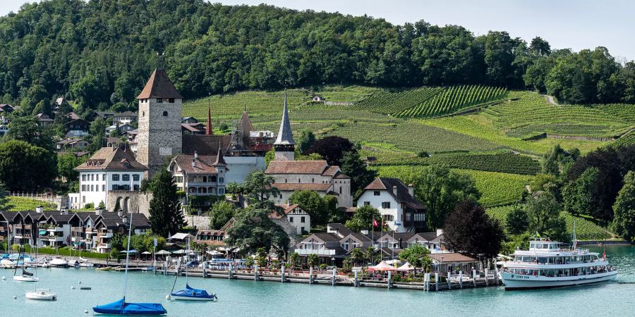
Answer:
<path fill-rule="evenodd" d="M 412 186 L 399 178 L 375 178 L 364 188 L 357 206 L 370 205 L 382 215 L 383 222 L 396 232 L 425 230 L 426 207 L 414 197 Z"/>

